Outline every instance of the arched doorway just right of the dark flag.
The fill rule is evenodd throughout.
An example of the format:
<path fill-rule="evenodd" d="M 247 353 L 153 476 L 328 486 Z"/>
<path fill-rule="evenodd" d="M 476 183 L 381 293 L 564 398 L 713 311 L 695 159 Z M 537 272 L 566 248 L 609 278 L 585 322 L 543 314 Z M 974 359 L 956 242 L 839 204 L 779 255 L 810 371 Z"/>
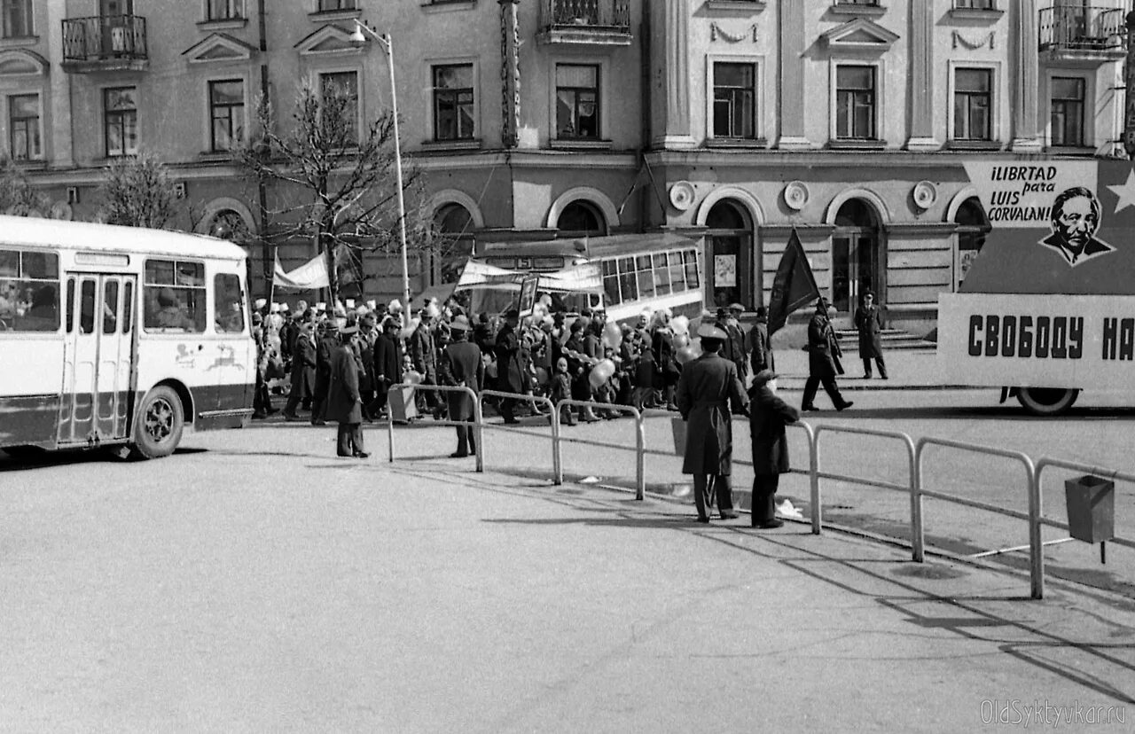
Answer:
<path fill-rule="evenodd" d="M 875 302 L 886 298 L 886 258 L 878 214 L 861 199 L 851 199 L 835 214 L 832 233 L 832 305 L 850 313 L 867 290 Z"/>

